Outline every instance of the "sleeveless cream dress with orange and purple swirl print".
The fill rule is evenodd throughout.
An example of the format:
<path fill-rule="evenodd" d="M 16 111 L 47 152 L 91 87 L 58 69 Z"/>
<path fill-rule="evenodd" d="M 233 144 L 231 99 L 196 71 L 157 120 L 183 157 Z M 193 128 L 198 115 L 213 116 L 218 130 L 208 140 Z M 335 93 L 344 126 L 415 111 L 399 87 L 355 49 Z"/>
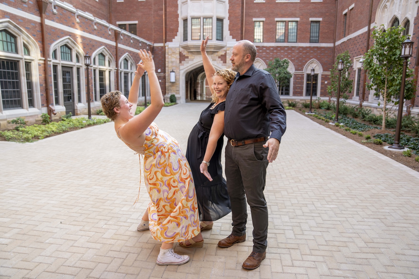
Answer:
<path fill-rule="evenodd" d="M 133 148 L 136 146 L 127 145 L 138 152 Z M 145 185 L 151 199 L 148 205 L 151 235 L 163 242 L 180 242 L 198 235 L 194 180 L 178 142 L 151 123 L 145 131 L 142 150 Z"/>

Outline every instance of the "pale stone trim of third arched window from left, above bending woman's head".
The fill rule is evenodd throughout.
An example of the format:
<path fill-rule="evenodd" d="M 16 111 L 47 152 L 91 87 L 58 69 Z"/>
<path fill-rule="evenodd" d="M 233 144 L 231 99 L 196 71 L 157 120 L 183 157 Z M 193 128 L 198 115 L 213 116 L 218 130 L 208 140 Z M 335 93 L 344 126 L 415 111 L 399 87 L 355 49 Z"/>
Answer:
<path fill-rule="evenodd" d="M 99 54 L 103 54 L 103 56 L 105 56 L 105 65 L 104 66 L 100 66 L 99 65 L 99 59 L 98 56 Z M 125 56 L 124 56 L 125 57 Z M 96 49 L 93 54 L 92 54 L 92 61 L 94 61 L 94 63 L 92 63 L 92 66 L 90 67 L 91 69 L 91 76 L 94 77 L 93 75 L 93 70 L 96 70 L 96 81 L 93 83 L 94 86 L 96 86 L 96 88 L 94 88 L 93 92 L 94 94 L 96 94 L 96 96 L 93 97 L 93 100 L 95 100 L 95 106 L 99 105 L 100 103 L 100 83 L 99 83 L 99 71 L 105 71 L 106 73 L 103 74 L 103 79 L 104 79 L 104 83 L 105 83 L 105 93 L 106 92 L 110 92 L 113 91 L 115 88 L 115 59 L 114 56 L 112 56 L 111 52 L 105 47 L 105 46 L 101 46 L 100 48 Z M 123 61 L 120 60 L 120 61 Z M 110 76 L 111 76 L 111 80 L 109 80 L 109 72 L 111 72 Z M 96 104 L 97 102 L 97 104 Z"/>

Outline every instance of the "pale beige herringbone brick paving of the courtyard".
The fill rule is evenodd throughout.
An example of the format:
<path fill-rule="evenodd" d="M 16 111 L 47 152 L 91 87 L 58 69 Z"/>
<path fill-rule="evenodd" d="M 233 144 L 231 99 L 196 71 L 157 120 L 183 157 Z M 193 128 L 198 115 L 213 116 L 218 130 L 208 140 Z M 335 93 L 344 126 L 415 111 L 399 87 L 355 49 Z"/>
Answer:
<path fill-rule="evenodd" d="M 185 151 L 206 105 L 163 108 L 155 122 Z M 138 156 L 107 123 L 0 142 L 0 279 L 418 278 L 419 173 L 287 114 L 279 158 L 268 166 L 269 244 L 258 269 L 241 268 L 251 215 L 246 242 L 217 247 L 231 231 L 228 215 L 203 232 L 203 248 L 175 246 L 191 261 L 158 266 L 160 244 L 136 230 L 148 200 L 142 187 L 133 205 Z"/>

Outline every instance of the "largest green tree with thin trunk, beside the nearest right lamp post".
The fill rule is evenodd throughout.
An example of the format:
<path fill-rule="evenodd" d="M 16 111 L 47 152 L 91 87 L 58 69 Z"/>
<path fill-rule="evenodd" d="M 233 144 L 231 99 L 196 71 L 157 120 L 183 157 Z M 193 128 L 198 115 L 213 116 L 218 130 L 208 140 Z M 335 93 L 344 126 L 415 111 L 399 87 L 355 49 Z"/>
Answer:
<path fill-rule="evenodd" d="M 398 105 L 400 95 L 403 58 L 400 57 L 401 43 L 406 40 L 402 35 L 404 28 L 384 26 L 372 31 L 374 45 L 365 54 L 364 69 L 367 71 L 368 90 L 375 90 L 374 95 L 383 100 L 383 129 L 385 129 L 386 106 L 389 102 Z M 412 69 L 407 69 L 406 79 L 413 76 Z M 410 100 L 414 96 L 412 80 L 406 80 L 404 98 Z M 380 105 L 380 103 L 378 103 Z"/>

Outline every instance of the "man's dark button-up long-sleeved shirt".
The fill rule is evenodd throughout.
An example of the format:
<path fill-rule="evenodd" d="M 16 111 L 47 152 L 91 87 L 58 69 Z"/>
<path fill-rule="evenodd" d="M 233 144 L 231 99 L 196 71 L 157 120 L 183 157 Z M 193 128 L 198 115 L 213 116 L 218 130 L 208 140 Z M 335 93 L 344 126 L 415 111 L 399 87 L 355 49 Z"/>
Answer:
<path fill-rule="evenodd" d="M 246 73 L 237 73 L 225 99 L 224 134 L 245 140 L 268 137 L 281 141 L 287 115 L 277 86 L 268 72 L 252 65 Z"/>

